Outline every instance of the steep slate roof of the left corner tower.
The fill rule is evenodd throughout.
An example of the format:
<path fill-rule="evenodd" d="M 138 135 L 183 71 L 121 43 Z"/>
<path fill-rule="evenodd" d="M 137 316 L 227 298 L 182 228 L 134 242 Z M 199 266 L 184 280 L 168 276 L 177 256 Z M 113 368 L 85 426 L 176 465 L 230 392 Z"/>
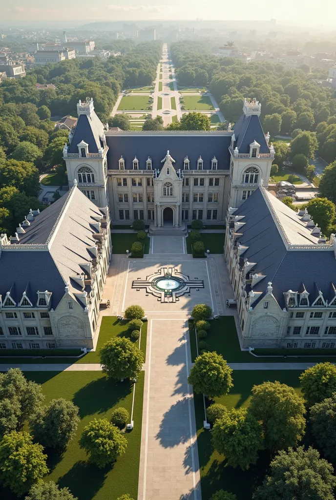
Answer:
<path fill-rule="evenodd" d="M 91 116 L 80 114 L 68 152 L 77 153 L 77 144 L 82 140 L 88 144 L 88 152 L 97 153 L 101 146 L 100 138 L 104 133 L 104 125 L 99 120 L 94 111 Z"/>

